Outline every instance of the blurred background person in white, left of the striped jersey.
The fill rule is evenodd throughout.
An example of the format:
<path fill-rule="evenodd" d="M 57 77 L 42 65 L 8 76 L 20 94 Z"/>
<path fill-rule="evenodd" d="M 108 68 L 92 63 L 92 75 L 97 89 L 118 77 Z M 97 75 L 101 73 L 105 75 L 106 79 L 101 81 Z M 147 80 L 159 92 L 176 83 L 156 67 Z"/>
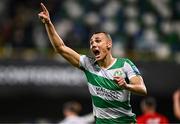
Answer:
<path fill-rule="evenodd" d="M 82 106 L 79 102 L 70 101 L 64 104 L 63 114 L 65 119 L 62 120 L 59 124 L 90 124 L 94 121 L 93 114 L 86 116 L 79 116 L 79 113 L 82 110 Z"/>

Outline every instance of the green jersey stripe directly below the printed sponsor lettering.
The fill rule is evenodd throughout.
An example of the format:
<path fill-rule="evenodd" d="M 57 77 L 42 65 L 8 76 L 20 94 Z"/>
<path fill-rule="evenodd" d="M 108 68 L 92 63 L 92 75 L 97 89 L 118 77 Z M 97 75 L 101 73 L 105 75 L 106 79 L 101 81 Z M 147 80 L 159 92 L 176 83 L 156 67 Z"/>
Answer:
<path fill-rule="evenodd" d="M 99 108 L 119 108 L 122 107 L 124 109 L 130 110 L 131 109 L 131 105 L 129 104 L 129 101 L 124 101 L 124 102 L 120 102 L 117 100 L 104 100 L 98 96 L 93 96 L 92 97 L 92 102 L 96 107 Z"/>

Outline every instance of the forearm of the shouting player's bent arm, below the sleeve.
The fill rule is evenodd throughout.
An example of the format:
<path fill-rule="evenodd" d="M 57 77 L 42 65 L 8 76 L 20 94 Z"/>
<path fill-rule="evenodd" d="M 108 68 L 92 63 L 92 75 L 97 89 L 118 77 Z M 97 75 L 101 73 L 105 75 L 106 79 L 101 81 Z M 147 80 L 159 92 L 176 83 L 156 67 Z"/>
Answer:
<path fill-rule="evenodd" d="M 126 90 L 140 95 L 147 95 L 146 87 L 140 84 L 127 84 Z"/>

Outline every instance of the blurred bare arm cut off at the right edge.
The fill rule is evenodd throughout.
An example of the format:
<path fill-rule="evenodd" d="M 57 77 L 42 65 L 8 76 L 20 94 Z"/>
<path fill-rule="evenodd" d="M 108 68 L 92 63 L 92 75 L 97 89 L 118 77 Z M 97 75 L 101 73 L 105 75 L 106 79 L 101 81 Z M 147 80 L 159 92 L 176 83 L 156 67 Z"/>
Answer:
<path fill-rule="evenodd" d="M 180 120 L 180 89 L 173 94 L 173 109 L 175 117 Z"/>

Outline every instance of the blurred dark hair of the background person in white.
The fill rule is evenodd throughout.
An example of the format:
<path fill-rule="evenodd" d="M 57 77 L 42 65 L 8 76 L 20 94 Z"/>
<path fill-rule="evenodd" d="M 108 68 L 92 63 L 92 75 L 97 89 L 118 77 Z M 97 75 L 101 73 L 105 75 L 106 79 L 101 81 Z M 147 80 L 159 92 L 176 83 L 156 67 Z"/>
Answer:
<path fill-rule="evenodd" d="M 67 111 L 75 112 L 77 114 L 79 114 L 81 112 L 81 109 L 82 109 L 81 104 L 76 101 L 70 101 L 63 105 L 64 111 L 67 110 Z"/>

